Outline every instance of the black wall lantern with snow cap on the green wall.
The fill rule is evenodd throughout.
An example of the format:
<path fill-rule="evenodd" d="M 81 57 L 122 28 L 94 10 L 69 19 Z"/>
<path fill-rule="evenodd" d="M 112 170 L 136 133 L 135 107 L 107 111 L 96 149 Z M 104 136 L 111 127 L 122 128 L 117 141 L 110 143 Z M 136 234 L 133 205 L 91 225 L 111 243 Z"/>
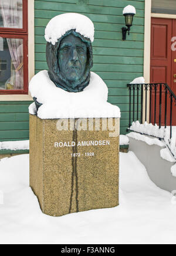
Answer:
<path fill-rule="evenodd" d="M 123 9 L 123 15 L 126 19 L 126 27 L 122 28 L 122 40 L 126 40 L 126 35 L 130 35 L 130 28 L 133 25 L 133 17 L 136 14 L 136 9 L 132 5 L 128 5 Z"/>

